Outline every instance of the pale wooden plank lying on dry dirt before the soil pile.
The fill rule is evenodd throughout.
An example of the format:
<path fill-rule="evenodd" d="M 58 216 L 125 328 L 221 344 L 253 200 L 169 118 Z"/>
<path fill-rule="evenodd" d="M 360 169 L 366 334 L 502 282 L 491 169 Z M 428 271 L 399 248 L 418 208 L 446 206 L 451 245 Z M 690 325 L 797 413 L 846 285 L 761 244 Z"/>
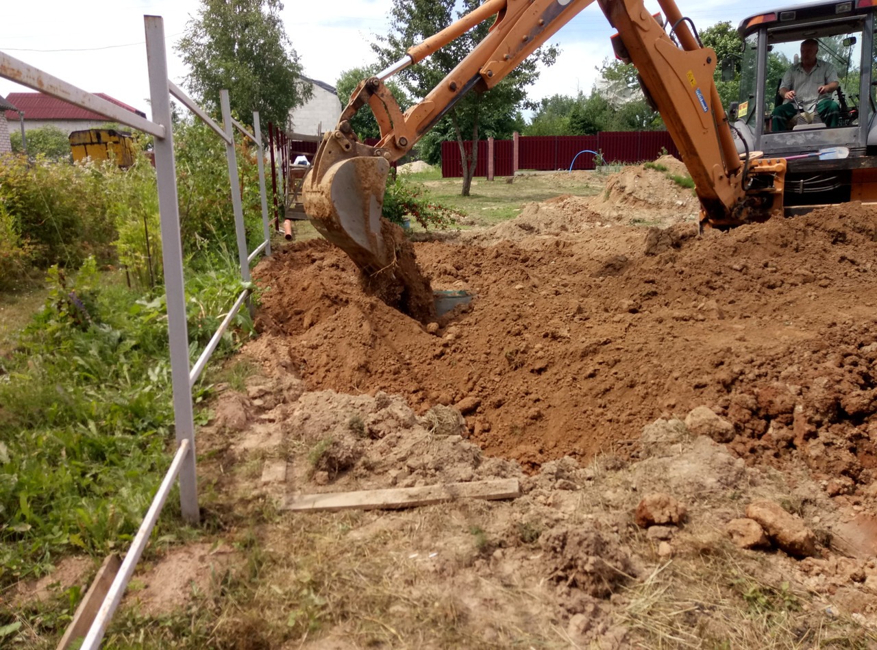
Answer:
<path fill-rule="evenodd" d="M 291 496 L 282 510 L 339 511 L 394 510 L 418 505 L 440 504 L 455 499 L 512 499 L 521 496 L 516 478 L 468 483 L 424 485 L 420 488 L 365 489 L 358 492 L 334 492 Z"/>

